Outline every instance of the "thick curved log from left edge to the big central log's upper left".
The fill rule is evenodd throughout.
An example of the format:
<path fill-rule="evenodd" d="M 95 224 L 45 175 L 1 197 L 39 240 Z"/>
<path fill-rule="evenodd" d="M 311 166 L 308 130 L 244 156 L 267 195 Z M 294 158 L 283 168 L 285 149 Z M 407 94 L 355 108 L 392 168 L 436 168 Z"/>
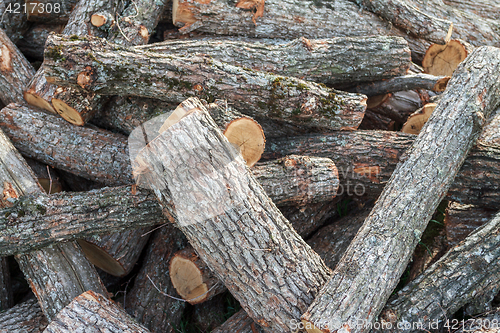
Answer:
<path fill-rule="evenodd" d="M 107 185 L 133 183 L 125 136 L 75 127 L 19 104 L 10 104 L 1 113 L 0 126 L 26 156 Z"/>

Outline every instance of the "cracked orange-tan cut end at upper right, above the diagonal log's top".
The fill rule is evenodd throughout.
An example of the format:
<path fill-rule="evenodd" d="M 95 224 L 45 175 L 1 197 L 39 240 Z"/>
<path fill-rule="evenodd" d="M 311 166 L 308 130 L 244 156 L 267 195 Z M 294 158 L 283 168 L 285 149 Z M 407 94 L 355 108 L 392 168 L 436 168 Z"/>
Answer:
<path fill-rule="evenodd" d="M 424 72 L 432 75 L 451 76 L 458 65 L 467 57 L 468 46 L 459 40 L 446 45 L 432 44 L 422 60 Z"/>

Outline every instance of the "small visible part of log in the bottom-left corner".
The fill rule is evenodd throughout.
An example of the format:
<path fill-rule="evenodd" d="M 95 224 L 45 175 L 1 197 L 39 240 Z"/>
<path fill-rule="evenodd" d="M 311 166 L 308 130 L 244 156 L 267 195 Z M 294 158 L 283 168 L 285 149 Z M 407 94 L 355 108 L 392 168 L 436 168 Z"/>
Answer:
<path fill-rule="evenodd" d="M 30 299 L 0 312 L 1 333 L 42 333 L 47 325 L 47 318 L 43 315 L 36 299 Z"/>

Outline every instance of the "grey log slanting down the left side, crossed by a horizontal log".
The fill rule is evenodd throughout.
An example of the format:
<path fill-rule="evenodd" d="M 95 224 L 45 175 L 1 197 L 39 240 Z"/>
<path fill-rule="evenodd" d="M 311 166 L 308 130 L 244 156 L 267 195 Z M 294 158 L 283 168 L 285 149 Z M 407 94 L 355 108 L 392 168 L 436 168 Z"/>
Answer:
<path fill-rule="evenodd" d="M 3 132 L 0 142 L 1 206 L 12 206 L 12 201 L 22 195 L 42 193 L 33 172 Z M 78 244 L 53 245 L 15 258 L 49 320 L 83 291 L 107 293 Z"/>

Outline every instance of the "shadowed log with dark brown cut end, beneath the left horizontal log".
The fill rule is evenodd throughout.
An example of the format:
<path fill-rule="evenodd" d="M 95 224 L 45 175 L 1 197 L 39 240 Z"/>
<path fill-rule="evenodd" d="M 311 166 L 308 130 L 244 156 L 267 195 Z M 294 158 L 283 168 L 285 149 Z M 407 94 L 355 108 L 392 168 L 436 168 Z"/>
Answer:
<path fill-rule="evenodd" d="M 159 221 L 156 221 L 157 223 Z M 114 276 L 125 276 L 134 268 L 148 242 L 151 227 L 92 235 L 78 240 L 91 263 Z"/>

